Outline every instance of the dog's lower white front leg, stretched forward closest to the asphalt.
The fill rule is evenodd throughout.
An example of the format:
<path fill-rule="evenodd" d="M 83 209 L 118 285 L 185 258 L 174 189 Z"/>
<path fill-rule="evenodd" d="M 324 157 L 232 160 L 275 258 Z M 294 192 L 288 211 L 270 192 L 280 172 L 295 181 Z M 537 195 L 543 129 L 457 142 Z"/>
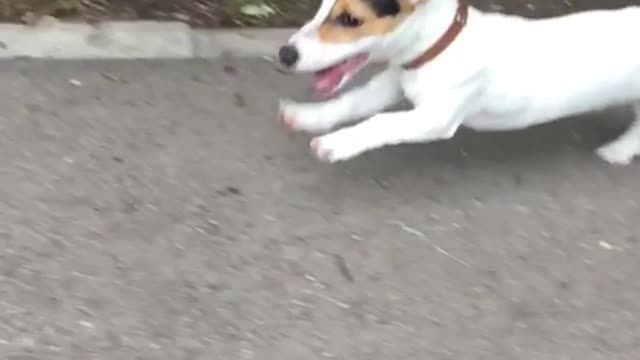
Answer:
<path fill-rule="evenodd" d="M 461 124 L 456 107 L 416 108 L 373 116 L 311 141 L 311 149 L 322 161 L 349 160 L 366 151 L 401 143 L 422 143 L 451 138 Z"/>

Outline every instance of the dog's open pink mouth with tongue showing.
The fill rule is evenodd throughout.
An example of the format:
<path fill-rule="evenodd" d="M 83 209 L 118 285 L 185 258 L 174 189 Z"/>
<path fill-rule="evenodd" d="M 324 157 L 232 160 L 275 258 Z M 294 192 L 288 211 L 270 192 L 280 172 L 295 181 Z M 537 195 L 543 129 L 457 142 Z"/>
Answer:
<path fill-rule="evenodd" d="M 321 98 L 331 97 L 364 67 L 368 54 L 358 54 L 313 74 L 313 88 Z"/>

